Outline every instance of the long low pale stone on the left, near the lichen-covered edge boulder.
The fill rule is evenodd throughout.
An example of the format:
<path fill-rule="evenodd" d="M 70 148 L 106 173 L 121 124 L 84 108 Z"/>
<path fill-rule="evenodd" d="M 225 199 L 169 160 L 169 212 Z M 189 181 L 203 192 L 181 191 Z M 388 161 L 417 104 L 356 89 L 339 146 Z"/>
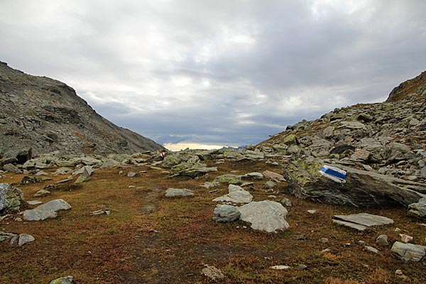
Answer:
<path fill-rule="evenodd" d="M 25 210 L 23 212 L 23 219 L 26 221 L 40 221 L 48 218 L 55 218 L 58 216 L 59 210 L 68 209 L 71 209 L 71 205 L 65 200 L 52 200 L 35 209 Z"/>

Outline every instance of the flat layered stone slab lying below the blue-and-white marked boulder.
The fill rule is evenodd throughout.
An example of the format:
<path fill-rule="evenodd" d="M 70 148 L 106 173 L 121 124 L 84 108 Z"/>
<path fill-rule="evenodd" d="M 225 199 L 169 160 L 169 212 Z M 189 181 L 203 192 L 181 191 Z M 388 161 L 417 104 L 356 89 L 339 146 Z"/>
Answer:
<path fill-rule="evenodd" d="M 350 228 L 357 229 L 359 231 L 364 231 L 370 226 L 393 224 L 393 219 L 368 213 L 334 215 L 333 219 L 333 222 L 336 224 L 349 226 Z"/>

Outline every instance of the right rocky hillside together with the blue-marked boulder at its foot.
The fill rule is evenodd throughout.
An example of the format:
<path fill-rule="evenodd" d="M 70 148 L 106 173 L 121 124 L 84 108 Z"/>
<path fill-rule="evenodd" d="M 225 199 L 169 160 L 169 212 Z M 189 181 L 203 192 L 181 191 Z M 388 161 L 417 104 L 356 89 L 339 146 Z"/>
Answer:
<path fill-rule="evenodd" d="M 356 104 L 300 121 L 256 148 L 288 162 L 285 177 L 300 197 L 406 206 L 426 192 L 426 72 L 395 87 L 386 102 Z M 333 182 L 324 182 L 319 170 L 327 164 L 346 170 L 349 182 L 334 188 Z"/>

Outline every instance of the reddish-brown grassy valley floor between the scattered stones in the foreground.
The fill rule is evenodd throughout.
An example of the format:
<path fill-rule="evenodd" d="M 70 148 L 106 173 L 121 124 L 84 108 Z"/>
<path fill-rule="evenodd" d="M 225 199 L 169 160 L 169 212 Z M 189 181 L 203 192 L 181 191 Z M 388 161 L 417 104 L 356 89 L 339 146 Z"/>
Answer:
<path fill-rule="evenodd" d="M 285 182 L 274 192 L 264 192 L 266 180 L 255 181 L 249 190 L 253 200 L 275 201 L 288 197 L 290 229 L 276 234 L 254 231 L 244 222 L 217 223 L 212 220 L 212 199 L 227 193 L 227 185 L 214 189 L 200 187 L 226 173 L 245 174 L 280 167 L 264 161 L 226 160 L 215 164 L 218 171 L 208 178 L 169 178 L 163 170 L 141 167 L 97 170 L 79 186 L 56 185 L 46 197 L 34 193 L 62 180 L 19 186 L 26 200 L 62 198 L 72 209 L 56 219 L 18 222 L 12 218 L 0 222 L 0 230 L 31 234 L 35 241 L 24 246 L 0 243 L 0 283 L 49 283 L 72 275 L 73 283 L 426 283 L 425 263 L 403 263 L 391 255 L 398 234 L 413 236 L 413 244 L 426 245 L 425 220 L 408 217 L 406 209 L 356 209 L 316 204 L 289 195 Z M 119 175 L 123 170 L 124 175 Z M 55 168 L 47 170 L 53 173 Z M 134 178 L 126 173 L 146 171 Z M 18 182 L 23 175 L 7 174 L 0 182 Z M 134 187 L 130 187 L 133 185 Z M 169 187 L 186 188 L 194 197 L 163 197 Z M 216 190 L 217 192 L 210 192 Z M 29 207 L 28 208 L 32 208 Z M 97 209 L 111 214 L 91 216 Z M 308 209 L 317 210 L 310 214 Z M 333 224 L 334 214 L 367 212 L 391 218 L 391 226 L 376 227 L 366 233 Z M 395 231 L 395 228 L 401 231 Z M 387 234 L 389 246 L 377 246 L 375 239 Z M 329 239 L 326 244 L 320 238 Z M 358 241 L 374 246 L 379 253 L 365 251 Z M 350 244 L 345 246 L 345 244 Z M 330 249 L 328 253 L 321 253 Z M 204 264 L 216 266 L 224 280 L 213 281 L 202 275 Z M 290 266 L 275 271 L 271 266 Z M 305 265 L 306 269 L 300 269 Z M 408 278 L 395 278 L 400 269 Z"/>

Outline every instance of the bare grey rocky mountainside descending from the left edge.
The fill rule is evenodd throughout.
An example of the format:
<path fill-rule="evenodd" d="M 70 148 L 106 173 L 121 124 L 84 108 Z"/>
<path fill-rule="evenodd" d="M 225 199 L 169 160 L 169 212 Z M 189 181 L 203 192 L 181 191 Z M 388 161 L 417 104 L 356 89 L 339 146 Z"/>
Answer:
<path fill-rule="evenodd" d="M 0 62 L 0 152 L 135 153 L 163 150 L 112 124 L 75 90 L 48 77 L 26 75 Z M 0 154 L 2 154 L 0 153 Z"/>

